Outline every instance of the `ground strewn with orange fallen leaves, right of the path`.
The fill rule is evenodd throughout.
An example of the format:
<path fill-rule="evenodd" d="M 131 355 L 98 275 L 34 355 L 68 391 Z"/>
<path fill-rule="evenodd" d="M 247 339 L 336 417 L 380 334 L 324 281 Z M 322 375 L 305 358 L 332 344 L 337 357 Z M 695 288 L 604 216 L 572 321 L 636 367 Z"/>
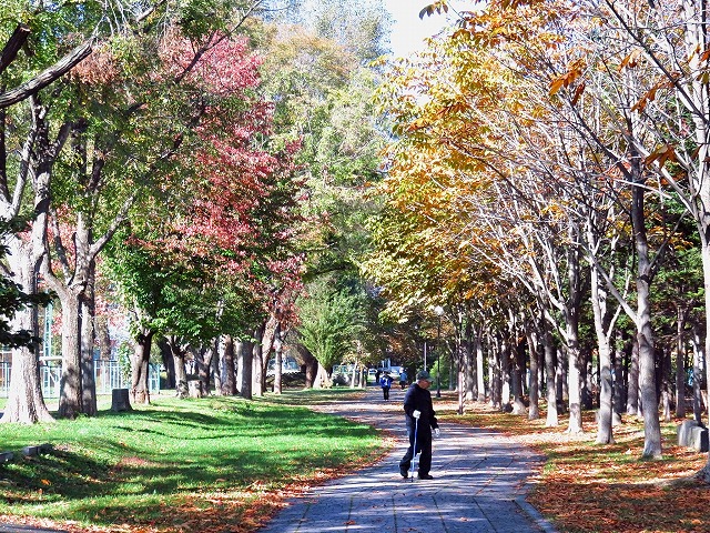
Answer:
<path fill-rule="evenodd" d="M 642 460 L 643 421 L 625 416 L 613 429 L 616 444 L 595 444 L 595 413 L 584 413 L 581 435 L 568 435 L 567 418 L 558 428 L 545 428 L 545 413 L 536 421 L 501 413 L 484 404 L 467 405 L 455 414 L 452 396 L 438 404 L 439 421 L 500 431 L 547 456 L 532 480 L 528 501 L 557 531 L 564 533 L 701 533 L 707 519 L 710 486 L 696 479 L 707 453 L 676 445 L 674 420 L 661 423 L 663 459 Z"/>

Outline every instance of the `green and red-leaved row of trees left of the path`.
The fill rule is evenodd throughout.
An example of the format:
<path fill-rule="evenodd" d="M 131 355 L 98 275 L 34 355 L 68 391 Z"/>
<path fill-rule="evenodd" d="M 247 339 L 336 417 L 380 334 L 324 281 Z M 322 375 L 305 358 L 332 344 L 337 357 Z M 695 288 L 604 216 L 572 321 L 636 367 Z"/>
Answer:
<path fill-rule="evenodd" d="M 311 354 L 323 341 L 306 333 L 315 308 L 346 298 L 362 309 L 349 322 L 365 323 L 372 302 L 338 249 L 364 239 L 356 191 L 375 177 L 382 138 L 366 64 L 382 51 L 383 13 L 316 6 L 294 27 L 301 2 L 14 2 L 0 12 L 0 209 L 22 221 L 6 232 L 6 278 L 30 302 L 50 290 L 60 303 L 61 416 L 95 413 L 98 315 L 130 316 L 139 402 L 155 342 L 181 395 L 192 353 L 206 383 L 214 374 L 220 392 L 251 398 L 296 325 L 318 366 Z M 337 41 L 343 12 L 361 40 Z M 308 292 L 312 303 L 298 303 Z M 6 316 L 24 336 L 2 421 L 51 420 L 38 309 L 13 308 Z M 322 371 L 334 353 L 356 353 L 359 329 L 347 328 L 325 344 Z"/>

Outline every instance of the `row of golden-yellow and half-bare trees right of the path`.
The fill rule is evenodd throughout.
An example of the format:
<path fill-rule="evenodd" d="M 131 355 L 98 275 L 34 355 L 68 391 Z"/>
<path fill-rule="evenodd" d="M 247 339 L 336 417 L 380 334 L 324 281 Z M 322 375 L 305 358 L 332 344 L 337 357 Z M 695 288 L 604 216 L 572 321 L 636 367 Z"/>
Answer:
<path fill-rule="evenodd" d="M 544 366 L 548 424 L 564 368 L 569 431 L 581 431 L 585 354 L 594 352 L 598 442 L 612 439 L 613 361 L 627 350 L 643 455 L 659 457 L 663 361 L 672 350 L 683 415 L 687 353 L 693 383 L 704 381 L 710 341 L 704 4 L 475 6 L 449 37 L 392 64 L 378 89 L 397 139 L 366 272 L 385 288 L 390 315 L 440 304 L 473 340 L 468 353 L 488 338 L 515 399 L 520 376 Z M 448 10 L 439 1 L 422 16 Z M 470 393 L 478 381 L 466 361 Z"/>

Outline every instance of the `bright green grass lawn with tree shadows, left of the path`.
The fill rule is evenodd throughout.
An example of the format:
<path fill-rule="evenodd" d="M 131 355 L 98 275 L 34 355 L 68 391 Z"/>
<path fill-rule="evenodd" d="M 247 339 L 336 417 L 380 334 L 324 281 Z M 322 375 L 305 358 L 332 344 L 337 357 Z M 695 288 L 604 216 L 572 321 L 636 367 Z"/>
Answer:
<path fill-rule="evenodd" d="M 31 426 L 0 425 L 0 516 L 70 531 L 246 532 L 308 483 L 384 452 L 366 425 L 306 409 L 351 390 L 214 396 Z M 34 457 L 27 445 L 51 443 Z M 39 522 L 38 522 L 39 521 Z"/>

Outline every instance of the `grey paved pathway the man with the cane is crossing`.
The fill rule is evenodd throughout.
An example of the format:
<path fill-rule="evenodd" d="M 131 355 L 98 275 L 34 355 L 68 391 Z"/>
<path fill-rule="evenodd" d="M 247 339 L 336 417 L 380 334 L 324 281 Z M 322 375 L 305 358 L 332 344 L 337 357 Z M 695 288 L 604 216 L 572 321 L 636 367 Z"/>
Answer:
<path fill-rule="evenodd" d="M 403 395 L 393 389 L 385 402 L 371 388 L 363 401 L 322 406 L 389 430 L 397 445 L 378 464 L 292 500 L 260 533 L 554 533 L 524 500 L 526 480 L 541 457 L 505 436 L 440 424 L 442 438 L 434 440 L 435 479 L 403 480 Z"/>

